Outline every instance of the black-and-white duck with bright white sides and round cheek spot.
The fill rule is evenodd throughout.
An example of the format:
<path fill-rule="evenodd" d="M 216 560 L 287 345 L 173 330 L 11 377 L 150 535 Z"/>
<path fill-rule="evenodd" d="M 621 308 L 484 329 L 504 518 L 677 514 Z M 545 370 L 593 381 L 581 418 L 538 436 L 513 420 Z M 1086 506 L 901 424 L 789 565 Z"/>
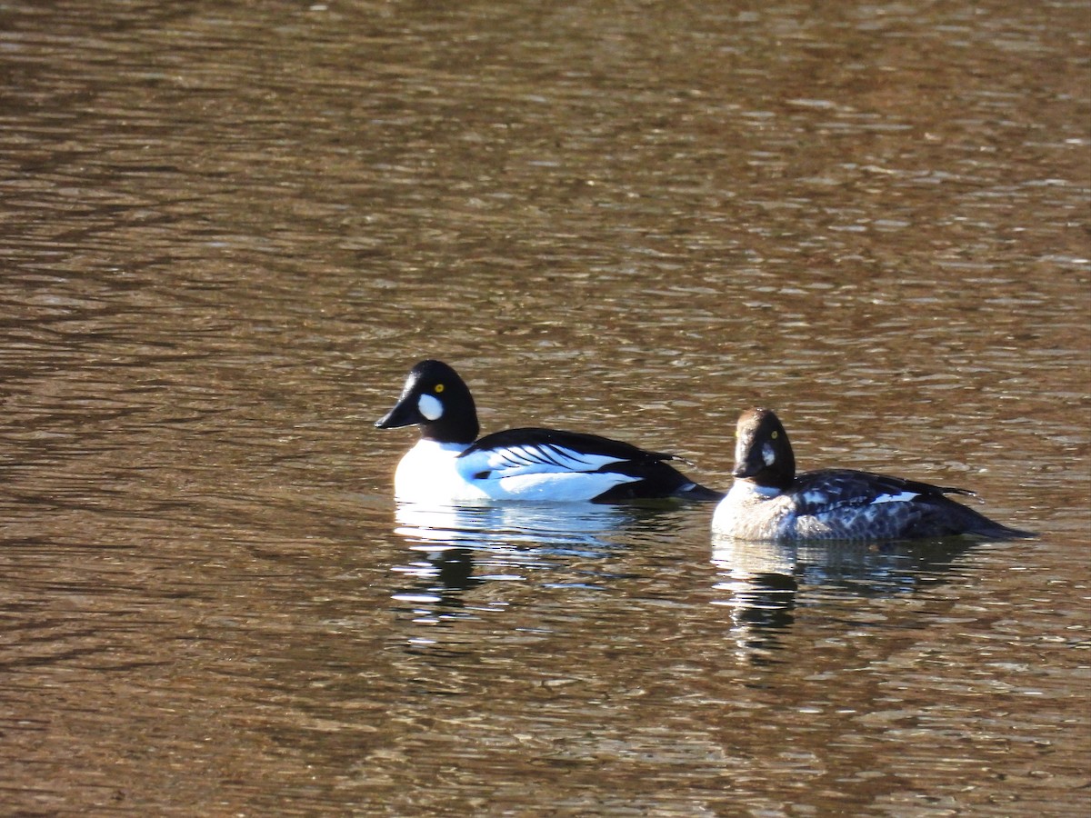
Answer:
<path fill-rule="evenodd" d="M 479 437 L 466 382 L 443 361 L 417 363 L 379 429 L 416 425 L 420 440 L 398 461 L 399 502 L 440 505 L 723 497 L 668 461 L 680 459 L 628 443 L 555 429 L 508 429 Z"/>

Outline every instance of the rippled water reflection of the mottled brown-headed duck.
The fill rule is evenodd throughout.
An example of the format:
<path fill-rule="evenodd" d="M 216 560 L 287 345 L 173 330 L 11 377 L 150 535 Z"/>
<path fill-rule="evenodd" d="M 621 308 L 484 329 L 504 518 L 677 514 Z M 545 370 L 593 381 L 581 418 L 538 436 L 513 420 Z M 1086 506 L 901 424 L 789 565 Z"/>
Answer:
<path fill-rule="evenodd" d="M 775 661 L 806 591 L 854 598 L 906 593 L 943 581 L 963 539 L 901 542 L 756 542 L 714 536 L 714 604 L 731 612 L 740 658 Z"/>

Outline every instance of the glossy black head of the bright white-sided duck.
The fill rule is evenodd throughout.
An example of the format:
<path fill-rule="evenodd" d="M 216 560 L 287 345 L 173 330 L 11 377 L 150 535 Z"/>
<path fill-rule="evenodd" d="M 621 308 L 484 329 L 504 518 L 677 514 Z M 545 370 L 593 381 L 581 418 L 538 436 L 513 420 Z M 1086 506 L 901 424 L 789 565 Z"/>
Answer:
<path fill-rule="evenodd" d="M 380 429 L 420 426 L 440 443 L 473 443 L 480 426 L 469 387 L 443 361 L 421 361 L 409 372 L 398 402 L 375 421 Z"/>

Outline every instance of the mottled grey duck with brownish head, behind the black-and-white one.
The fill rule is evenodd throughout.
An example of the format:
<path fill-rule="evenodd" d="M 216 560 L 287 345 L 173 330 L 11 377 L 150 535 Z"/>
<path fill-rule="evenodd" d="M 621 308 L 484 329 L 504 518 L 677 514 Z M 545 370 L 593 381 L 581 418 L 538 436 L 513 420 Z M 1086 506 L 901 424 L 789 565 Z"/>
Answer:
<path fill-rule="evenodd" d="M 966 489 L 855 469 L 795 471 L 788 433 L 770 409 L 744 411 L 735 428 L 734 482 L 712 532 L 742 540 L 914 540 L 970 534 L 1033 537 L 948 497 Z"/>

